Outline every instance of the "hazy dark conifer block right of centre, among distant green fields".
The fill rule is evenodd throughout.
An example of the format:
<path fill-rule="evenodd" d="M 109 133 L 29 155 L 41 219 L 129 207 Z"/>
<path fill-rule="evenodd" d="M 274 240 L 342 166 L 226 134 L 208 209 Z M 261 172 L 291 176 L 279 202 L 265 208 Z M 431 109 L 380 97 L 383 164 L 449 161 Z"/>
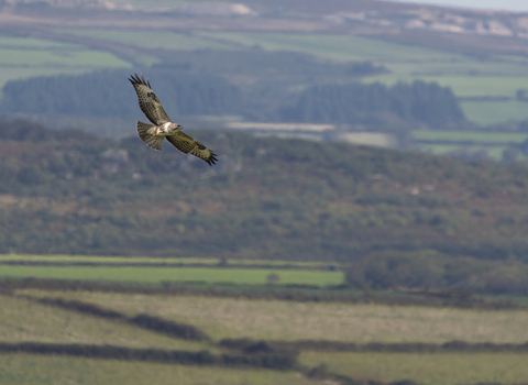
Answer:
<path fill-rule="evenodd" d="M 465 118 L 450 88 L 436 82 L 323 85 L 301 92 L 294 107 L 282 111 L 284 121 L 319 123 L 421 123 L 446 128 Z"/>

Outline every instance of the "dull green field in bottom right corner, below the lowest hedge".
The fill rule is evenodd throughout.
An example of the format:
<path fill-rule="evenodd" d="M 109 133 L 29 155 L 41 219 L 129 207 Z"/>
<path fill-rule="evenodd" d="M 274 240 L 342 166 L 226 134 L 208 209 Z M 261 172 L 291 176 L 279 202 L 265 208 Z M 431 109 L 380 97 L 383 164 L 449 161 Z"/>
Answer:
<path fill-rule="evenodd" d="M 300 363 L 327 364 L 330 372 L 382 382 L 413 380 L 424 385 L 501 383 L 528 378 L 527 354 L 512 353 L 321 353 L 304 352 Z"/>

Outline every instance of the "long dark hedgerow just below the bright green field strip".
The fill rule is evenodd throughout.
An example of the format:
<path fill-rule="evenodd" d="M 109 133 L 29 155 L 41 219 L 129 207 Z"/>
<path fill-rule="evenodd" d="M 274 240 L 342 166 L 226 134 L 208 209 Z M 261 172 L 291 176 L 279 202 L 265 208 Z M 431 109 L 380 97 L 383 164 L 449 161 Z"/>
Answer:
<path fill-rule="evenodd" d="M 127 285 L 123 283 L 97 280 L 68 280 L 45 278 L 0 279 L 0 293 L 12 294 L 21 289 L 48 292 L 99 292 L 144 295 L 186 295 L 220 298 L 245 298 L 264 300 L 287 300 L 298 302 L 346 302 L 397 306 L 454 307 L 468 309 L 524 309 L 510 300 L 488 300 L 458 290 L 439 293 L 371 293 L 351 289 L 348 285 L 234 285 L 207 284 L 204 282 L 164 282 L 158 285 Z"/>

